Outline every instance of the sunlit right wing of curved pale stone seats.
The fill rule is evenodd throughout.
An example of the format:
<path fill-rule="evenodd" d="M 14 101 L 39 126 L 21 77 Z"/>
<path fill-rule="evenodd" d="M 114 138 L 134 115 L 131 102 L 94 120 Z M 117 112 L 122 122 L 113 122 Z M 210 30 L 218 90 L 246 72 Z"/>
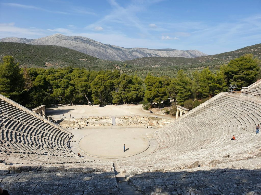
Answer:
<path fill-rule="evenodd" d="M 171 170 L 193 167 L 197 161 L 197 165 L 208 166 L 215 160 L 256 158 L 260 155 L 261 137 L 255 133 L 261 121 L 260 110 L 257 100 L 221 93 L 159 129 L 155 133 L 159 142 L 156 152 L 134 162 L 120 162 L 119 168 L 124 172 L 126 167 L 129 172 L 142 172 L 149 166 Z"/>

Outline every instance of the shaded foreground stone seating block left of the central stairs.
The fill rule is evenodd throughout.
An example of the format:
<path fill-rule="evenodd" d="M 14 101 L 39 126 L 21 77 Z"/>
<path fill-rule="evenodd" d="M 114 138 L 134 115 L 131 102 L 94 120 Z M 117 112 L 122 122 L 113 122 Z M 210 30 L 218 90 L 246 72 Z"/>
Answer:
<path fill-rule="evenodd" d="M 0 185 L 9 194 L 119 194 L 115 173 L 90 167 L 5 166 Z"/>

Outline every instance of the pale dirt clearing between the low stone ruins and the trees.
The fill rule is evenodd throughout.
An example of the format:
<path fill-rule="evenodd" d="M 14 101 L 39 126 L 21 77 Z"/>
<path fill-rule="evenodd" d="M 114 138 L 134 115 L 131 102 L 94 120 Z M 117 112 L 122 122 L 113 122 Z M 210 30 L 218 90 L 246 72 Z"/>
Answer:
<path fill-rule="evenodd" d="M 75 106 L 52 106 L 45 109 L 45 115 L 53 118 L 81 118 L 86 116 L 122 116 L 122 115 L 150 115 L 141 109 L 141 105 L 107 105 L 99 107 L 98 105 L 75 105 Z"/>

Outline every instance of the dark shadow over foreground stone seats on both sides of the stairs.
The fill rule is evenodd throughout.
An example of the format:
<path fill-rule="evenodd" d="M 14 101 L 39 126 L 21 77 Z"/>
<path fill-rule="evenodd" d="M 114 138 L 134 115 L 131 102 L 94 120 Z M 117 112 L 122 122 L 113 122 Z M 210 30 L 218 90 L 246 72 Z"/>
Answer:
<path fill-rule="evenodd" d="M 28 167 L 28 166 L 27 166 Z M 41 168 L 40 168 L 41 169 Z M 49 167 L 44 171 L 0 170 L 1 187 L 9 194 L 119 194 L 114 172 L 94 169 Z M 79 171 L 80 170 L 80 171 Z M 212 169 L 194 172 L 144 172 L 130 176 L 129 183 L 142 194 L 260 194 L 261 170 Z M 48 187 L 46 187 L 48 186 Z M 55 192 L 55 193 L 54 193 Z"/>

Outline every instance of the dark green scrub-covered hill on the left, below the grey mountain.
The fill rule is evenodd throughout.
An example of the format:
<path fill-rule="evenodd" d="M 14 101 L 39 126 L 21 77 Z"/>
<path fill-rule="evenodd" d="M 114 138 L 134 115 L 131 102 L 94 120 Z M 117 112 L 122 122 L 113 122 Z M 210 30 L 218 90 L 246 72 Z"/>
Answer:
<path fill-rule="evenodd" d="M 11 55 L 20 66 L 27 67 L 80 67 L 91 70 L 113 69 L 122 62 L 100 60 L 96 57 L 60 46 L 30 45 L 0 42 L 0 57 Z"/>

